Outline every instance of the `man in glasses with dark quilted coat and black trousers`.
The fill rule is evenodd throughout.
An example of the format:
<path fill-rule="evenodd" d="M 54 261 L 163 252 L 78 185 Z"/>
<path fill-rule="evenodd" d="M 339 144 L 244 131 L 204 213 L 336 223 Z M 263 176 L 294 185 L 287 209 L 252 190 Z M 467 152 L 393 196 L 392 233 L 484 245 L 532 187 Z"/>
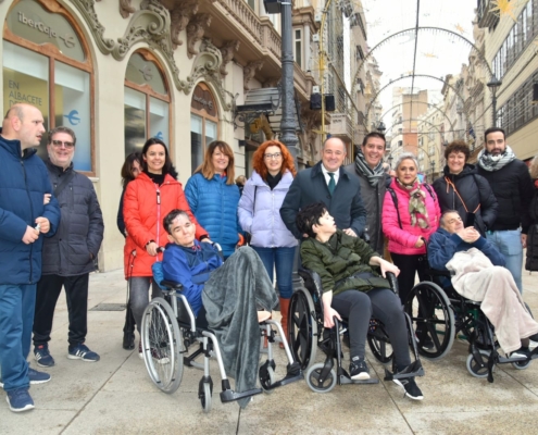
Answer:
<path fill-rule="evenodd" d="M 43 244 L 42 276 L 37 284 L 34 356 L 40 366 L 54 365 L 48 341 L 54 309 L 65 287 L 70 316 L 68 359 L 99 361 L 84 344 L 87 334 L 88 278 L 103 239 L 101 208 L 91 181 L 73 169 L 75 133 L 67 127 L 49 132 L 47 169 L 62 220 L 54 237 Z"/>

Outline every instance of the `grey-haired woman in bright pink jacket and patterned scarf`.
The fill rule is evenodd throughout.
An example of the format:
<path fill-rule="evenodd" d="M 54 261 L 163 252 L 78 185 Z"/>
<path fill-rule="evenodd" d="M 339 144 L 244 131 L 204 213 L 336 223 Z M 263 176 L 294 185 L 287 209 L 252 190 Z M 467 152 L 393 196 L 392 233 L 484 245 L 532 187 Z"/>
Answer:
<path fill-rule="evenodd" d="M 400 269 L 398 285 L 404 303 L 416 272 L 421 281 L 426 278 L 425 244 L 439 226 L 441 211 L 434 188 L 418 181 L 415 156 L 403 152 L 396 163 L 396 178 L 385 194 L 381 222 L 390 256 Z"/>

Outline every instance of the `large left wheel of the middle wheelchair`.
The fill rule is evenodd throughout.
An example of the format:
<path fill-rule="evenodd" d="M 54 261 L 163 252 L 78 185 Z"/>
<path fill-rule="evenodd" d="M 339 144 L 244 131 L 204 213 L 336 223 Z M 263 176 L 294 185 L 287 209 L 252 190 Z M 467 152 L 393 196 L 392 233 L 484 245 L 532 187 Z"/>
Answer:
<path fill-rule="evenodd" d="M 288 339 L 293 360 L 299 362 L 302 370 L 306 370 L 315 359 L 317 322 L 314 301 L 304 288 L 293 293 L 289 301 Z"/>

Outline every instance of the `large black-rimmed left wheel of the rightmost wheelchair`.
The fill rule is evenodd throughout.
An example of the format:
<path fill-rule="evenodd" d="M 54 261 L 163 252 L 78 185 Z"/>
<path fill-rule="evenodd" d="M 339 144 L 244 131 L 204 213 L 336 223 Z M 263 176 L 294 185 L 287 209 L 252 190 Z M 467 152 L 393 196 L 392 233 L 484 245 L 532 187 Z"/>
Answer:
<path fill-rule="evenodd" d="M 435 283 L 415 285 L 404 303 L 413 322 L 418 353 L 429 360 L 439 360 L 454 343 L 454 312 L 445 291 Z"/>

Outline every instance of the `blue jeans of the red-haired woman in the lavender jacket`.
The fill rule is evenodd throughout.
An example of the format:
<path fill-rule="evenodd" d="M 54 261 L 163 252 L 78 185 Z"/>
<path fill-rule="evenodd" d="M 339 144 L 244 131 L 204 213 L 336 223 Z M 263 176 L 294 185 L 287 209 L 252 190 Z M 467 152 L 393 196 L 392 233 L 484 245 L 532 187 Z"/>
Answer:
<path fill-rule="evenodd" d="M 273 270 L 276 269 L 276 282 L 278 284 L 278 293 L 280 298 L 289 299 L 293 293 L 291 285 L 291 274 L 293 272 L 293 259 L 296 248 L 260 248 L 251 247 L 262 260 L 271 283 L 273 283 Z"/>

